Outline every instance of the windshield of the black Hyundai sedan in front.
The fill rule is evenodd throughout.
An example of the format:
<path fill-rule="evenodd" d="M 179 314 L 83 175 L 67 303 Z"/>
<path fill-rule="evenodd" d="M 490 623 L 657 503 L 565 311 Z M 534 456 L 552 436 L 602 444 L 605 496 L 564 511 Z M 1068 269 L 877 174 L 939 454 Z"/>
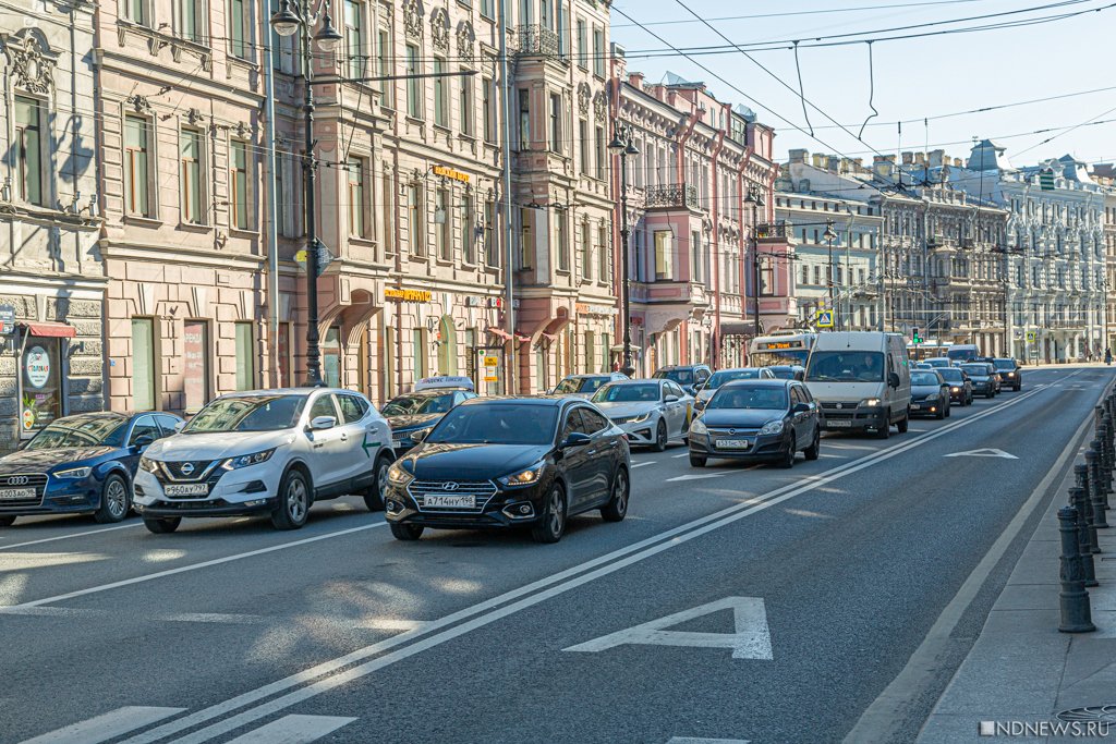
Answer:
<path fill-rule="evenodd" d="M 424 442 L 431 444 L 552 444 L 558 408 L 529 403 L 458 406 Z"/>

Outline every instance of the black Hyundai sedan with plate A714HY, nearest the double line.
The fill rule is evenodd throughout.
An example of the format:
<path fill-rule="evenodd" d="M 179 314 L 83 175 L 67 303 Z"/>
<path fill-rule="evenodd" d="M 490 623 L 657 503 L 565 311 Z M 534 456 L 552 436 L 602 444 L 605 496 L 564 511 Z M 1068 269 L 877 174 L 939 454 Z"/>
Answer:
<path fill-rule="evenodd" d="M 446 414 L 388 471 L 386 519 L 397 540 L 426 528 L 530 528 L 558 542 L 574 514 L 627 514 L 623 429 L 571 396 L 475 398 Z"/>

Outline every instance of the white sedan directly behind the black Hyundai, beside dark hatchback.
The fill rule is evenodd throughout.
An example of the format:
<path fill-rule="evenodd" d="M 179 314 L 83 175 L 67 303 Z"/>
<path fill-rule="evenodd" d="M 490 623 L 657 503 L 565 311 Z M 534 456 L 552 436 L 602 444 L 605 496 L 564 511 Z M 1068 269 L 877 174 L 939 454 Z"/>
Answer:
<path fill-rule="evenodd" d="M 683 442 L 693 416 L 693 396 L 670 379 L 609 383 L 590 398 L 632 444 L 666 450 L 673 438 Z"/>

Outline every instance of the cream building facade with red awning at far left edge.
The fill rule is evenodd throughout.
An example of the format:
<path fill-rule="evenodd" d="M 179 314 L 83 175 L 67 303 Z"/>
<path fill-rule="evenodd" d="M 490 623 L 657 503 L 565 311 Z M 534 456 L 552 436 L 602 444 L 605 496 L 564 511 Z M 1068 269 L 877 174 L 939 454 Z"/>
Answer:
<path fill-rule="evenodd" d="M 93 8 L 0 2 L 0 453 L 104 406 Z"/>

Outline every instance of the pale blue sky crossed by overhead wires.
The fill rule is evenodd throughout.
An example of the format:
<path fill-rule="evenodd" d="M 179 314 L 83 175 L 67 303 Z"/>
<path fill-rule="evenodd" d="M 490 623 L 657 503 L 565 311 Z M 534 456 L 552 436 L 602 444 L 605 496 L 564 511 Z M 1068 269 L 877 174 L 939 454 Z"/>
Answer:
<path fill-rule="evenodd" d="M 1043 20 L 1081 11 L 1086 12 Z M 993 13 L 1001 15 L 988 18 Z M 728 18 L 741 16 L 749 18 Z M 987 18 L 959 20 L 978 16 Z M 1037 22 L 884 40 L 1030 21 Z M 925 23 L 940 25 L 885 30 Z M 867 163 L 875 154 L 910 149 L 942 148 L 951 157 L 966 158 L 974 138 L 1006 146 L 1016 166 L 1067 153 L 1087 163 L 1116 161 L 1113 0 L 614 0 L 610 33 L 613 42 L 627 51 L 629 71 L 643 71 L 651 81 L 667 71 L 701 80 L 719 100 L 753 109 L 776 128 L 780 161 L 786 161 L 788 149 L 799 147 L 864 157 Z M 819 37 L 830 38 L 819 41 Z M 867 39 L 873 42 L 866 44 Z M 795 40 L 799 41 L 797 69 Z M 807 46 L 846 41 L 852 44 Z M 783 44 L 768 45 L 778 47 L 770 50 L 749 49 L 751 59 L 730 46 L 759 42 Z M 683 51 L 722 49 L 691 54 L 687 59 L 671 46 Z M 799 98 L 799 71 L 801 91 L 816 106 L 807 109 L 809 123 Z M 1112 89 L 944 116 L 1097 88 Z M 872 115 L 869 96 L 879 115 L 868 122 L 862 142 L 857 135 Z"/>

